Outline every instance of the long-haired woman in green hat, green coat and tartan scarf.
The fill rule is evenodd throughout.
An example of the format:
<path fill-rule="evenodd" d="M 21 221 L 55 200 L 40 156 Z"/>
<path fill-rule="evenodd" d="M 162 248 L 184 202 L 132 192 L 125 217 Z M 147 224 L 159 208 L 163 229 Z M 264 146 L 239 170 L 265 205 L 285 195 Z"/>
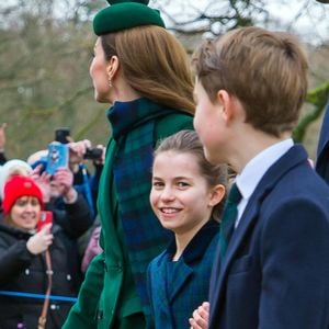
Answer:
<path fill-rule="evenodd" d="M 99 37 L 90 67 L 95 100 L 113 104 L 98 200 L 103 252 L 89 265 L 66 329 L 147 327 L 147 266 L 170 236 L 148 201 L 152 149 L 193 128 L 193 83 L 182 45 L 148 1 L 109 2 L 93 21 Z"/>

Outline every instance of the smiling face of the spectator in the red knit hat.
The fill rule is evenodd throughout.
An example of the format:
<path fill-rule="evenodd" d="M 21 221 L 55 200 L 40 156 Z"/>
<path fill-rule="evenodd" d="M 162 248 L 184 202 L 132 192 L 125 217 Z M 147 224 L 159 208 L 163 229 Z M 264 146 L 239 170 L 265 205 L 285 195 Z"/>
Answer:
<path fill-rule="evenodd" d="M 10 222 L 13 226 L 24 230 L 36 227 L 41 215 L 41 204 L 34 196 L 21 196 L 10 212 Z"/>

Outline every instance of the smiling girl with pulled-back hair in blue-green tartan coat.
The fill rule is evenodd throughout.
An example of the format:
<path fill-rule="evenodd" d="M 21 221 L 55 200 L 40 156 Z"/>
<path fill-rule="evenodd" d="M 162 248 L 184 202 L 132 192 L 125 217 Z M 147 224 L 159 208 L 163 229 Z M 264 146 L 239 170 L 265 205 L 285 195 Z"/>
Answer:
<path fill-rule="evenodd" d="M 193 131 L 167 137 L 155 152 L 150 203 L 174 232 L 148 269 L 155 328 L 190 328 L 193 310 L 207 300 L 226 183 L 227 166 L 206 161 Z"/>

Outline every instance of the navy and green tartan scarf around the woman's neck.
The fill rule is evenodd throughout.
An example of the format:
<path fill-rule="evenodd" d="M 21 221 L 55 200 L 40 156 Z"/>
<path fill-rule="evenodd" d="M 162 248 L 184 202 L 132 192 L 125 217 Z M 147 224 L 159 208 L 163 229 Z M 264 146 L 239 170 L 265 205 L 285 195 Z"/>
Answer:
<path fill-rule="evenodd" d="M 113 138 L 117 143 L 113 172 L 120 220 L 137 293 L 146 315 L 150 313 L 146 270 L 149 261 L 163 250 L 169 240 L 169 232 L 161 227 L 149 205 L 152 150 L 156 144 L 154 131 L 156 120 L 174 111 L 146 99 L 115 103 L 109 112 Z"/>

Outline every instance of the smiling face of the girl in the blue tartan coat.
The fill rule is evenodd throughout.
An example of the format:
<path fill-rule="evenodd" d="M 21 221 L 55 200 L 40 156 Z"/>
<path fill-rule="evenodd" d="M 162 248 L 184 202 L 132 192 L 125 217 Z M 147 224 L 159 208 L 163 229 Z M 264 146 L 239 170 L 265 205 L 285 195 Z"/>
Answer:
<path fill-rule="evenodd" d="M 194 155 L 170 150 L 156 156 L 150 204 L 161 225 L 177 235 L 193 236 L 209 219 L 213 189 Z"/>

